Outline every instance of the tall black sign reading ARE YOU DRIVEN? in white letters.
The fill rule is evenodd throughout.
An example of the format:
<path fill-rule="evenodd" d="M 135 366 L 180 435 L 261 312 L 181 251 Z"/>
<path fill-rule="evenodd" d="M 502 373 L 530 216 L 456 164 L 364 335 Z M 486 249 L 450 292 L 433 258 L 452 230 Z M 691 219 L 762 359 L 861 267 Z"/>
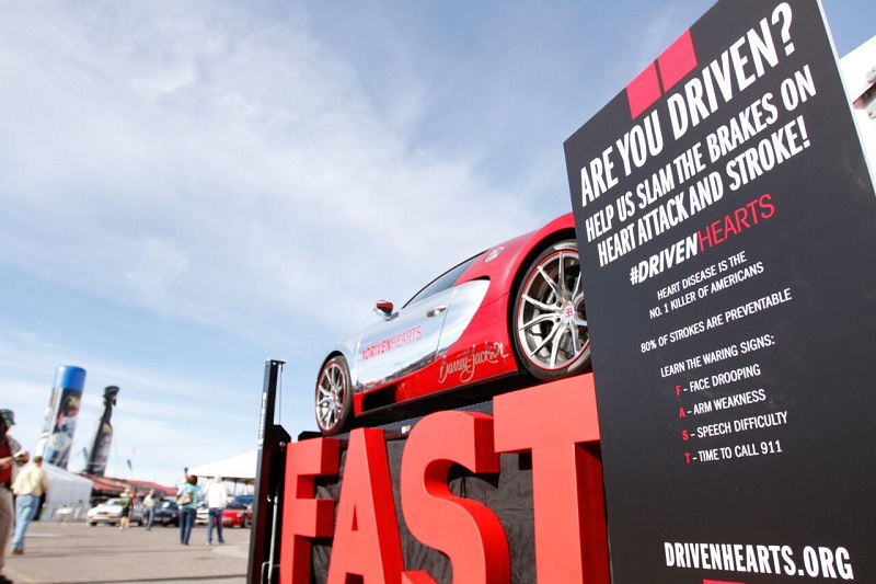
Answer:
<path fill-rule="evenodd" d="M 565 148 L 614 584 L 876 582 L 876 199 L 819 3 L 718 2 Z"/>

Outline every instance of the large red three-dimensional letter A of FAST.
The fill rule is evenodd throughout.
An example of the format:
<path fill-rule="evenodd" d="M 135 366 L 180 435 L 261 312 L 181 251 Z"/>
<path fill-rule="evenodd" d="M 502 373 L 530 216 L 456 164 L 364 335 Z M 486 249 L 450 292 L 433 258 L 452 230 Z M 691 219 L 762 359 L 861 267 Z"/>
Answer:
<path fill-rule="evenodd" d="M 397 584 L 402 570 L 383 432 L 354 430 L 341 484 L 327 583 L 345 584 L 348 574 L 356 574 L 366 583 Z"/>

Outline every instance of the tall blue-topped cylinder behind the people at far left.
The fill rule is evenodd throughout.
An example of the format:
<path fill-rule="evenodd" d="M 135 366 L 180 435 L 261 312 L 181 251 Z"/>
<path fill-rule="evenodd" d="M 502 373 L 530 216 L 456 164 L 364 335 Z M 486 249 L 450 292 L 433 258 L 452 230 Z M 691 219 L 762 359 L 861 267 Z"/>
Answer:
<path fill-rule="evenodd" d="M 85 387 L 85 369 L 64 365 L 55 371 L 46 423 L 37 447 L 46 462 L 66 469 Z"/>

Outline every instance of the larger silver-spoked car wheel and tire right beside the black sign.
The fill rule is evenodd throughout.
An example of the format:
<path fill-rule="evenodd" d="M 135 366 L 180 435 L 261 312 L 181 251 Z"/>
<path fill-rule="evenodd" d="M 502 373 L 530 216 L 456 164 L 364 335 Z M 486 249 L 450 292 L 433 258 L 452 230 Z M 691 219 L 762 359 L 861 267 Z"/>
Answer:
<path fill-rule="evenodd" d="M 553 381 L 590 366 L 590 335 L 581 291 L 578 244 L 549 245 L 515 290 L 511 339 L 518 362 L 535 379 Z"/>

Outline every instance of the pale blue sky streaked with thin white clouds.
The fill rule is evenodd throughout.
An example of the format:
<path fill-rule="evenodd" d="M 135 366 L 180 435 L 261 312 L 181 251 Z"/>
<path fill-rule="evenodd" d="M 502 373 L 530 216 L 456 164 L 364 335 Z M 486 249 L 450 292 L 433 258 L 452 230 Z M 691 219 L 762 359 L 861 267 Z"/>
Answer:
<path fill-rule="evenodd" d="M 255 447 L 268 358 L 314 430 L 327 346 L 568 211 L 563 141 L 711 5 L 4 2 L 12 434 L 35 447 L 78 365 L 70 470 L 115 385 L 107 474 L 172 484 Z M 872 1 L 823 7 L 840 55 L 876 32 Z"/>

